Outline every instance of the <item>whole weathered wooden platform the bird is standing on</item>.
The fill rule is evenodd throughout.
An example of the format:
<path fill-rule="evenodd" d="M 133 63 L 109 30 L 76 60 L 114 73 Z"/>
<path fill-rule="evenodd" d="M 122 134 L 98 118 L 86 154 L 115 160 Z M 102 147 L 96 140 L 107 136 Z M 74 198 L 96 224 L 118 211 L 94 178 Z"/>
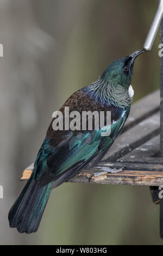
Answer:
<path fill-rule="evenodd" d="M 102 161 L 95 167 L 88 166 L 68 182 L 87 183 L 92 173 L 103 172 L 108 167 L 124 167 L 121 173 L 92 176 L 90 182 L 115 185 L 163 185 L 159 131 L 159 91 L 156 91 L 131 107 L 122 135 L 116 139 Z M 33 164 L 26 168 L 20 179 L 28 180 L 33 168 Z"/>

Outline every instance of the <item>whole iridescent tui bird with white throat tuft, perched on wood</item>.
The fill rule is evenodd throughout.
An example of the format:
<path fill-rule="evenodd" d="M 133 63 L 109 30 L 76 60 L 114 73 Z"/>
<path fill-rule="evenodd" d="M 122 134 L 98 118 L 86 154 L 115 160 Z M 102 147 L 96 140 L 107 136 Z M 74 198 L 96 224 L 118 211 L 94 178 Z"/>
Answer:
<path fill-rule="evenodd" d="M 78 90 L 61 107 L 63 114 L 65 107 L 79 113 L 110 111 L 110 135 L 101 136 L 101 128 L 56 131 L 53 119 L 37 154 L 33 173 L 9 211 L 11 228 L 17 228 L 20 233 L 36 232 L 52 188 L 72 178 L 91 162 L 100 160 L 110 149 L 130 112 L 134 95 L 130 85 L 133 65 L 142 52 L 144 50 L 136 51 L 112 62 L 98 81 Z M 106 172 L 121 170 L 108 168 Z"/>

